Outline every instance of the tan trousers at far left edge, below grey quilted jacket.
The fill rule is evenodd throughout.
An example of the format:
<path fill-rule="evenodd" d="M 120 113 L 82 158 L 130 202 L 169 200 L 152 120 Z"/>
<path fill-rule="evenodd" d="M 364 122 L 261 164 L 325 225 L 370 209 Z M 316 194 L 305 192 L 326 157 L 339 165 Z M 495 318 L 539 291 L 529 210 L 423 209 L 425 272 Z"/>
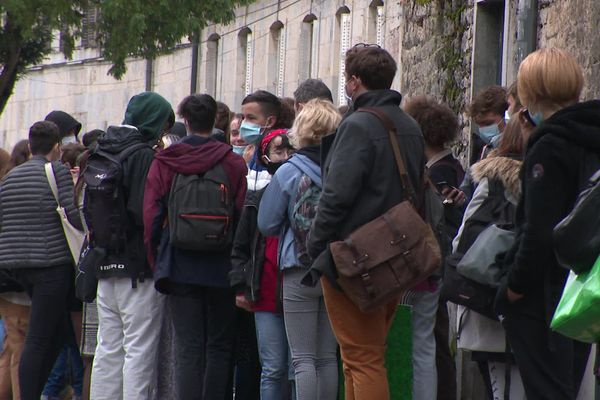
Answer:
<path fill-rule="evenodd" d="M 19 362 L 29 326 L 30 307 L 10 303 L 0 298 L 0 315 L 4 320 L 6 338 L 0 354 L 0 399 L 19 400 Z M 12 393 L 12 396 L 11 396 Z"/>

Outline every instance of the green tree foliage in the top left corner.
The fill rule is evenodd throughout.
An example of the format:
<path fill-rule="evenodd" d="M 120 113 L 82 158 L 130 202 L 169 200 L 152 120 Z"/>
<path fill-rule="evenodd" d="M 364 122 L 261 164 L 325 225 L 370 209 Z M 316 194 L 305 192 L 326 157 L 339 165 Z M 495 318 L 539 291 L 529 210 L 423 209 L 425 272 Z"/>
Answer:
<path fill-rule="evenodd" d="M 1 0 L 0 113 L 19 76 L 50 53 L 56 31 L 61 51 L 71 57 L 86 10 L 99 10 L 97 43 L 113 64 L 109 73 L 119 79 L 126 72 L 127 57 L 168 53 L 206 25 L 231 21 L 237 6 L 252 1 Z"/>

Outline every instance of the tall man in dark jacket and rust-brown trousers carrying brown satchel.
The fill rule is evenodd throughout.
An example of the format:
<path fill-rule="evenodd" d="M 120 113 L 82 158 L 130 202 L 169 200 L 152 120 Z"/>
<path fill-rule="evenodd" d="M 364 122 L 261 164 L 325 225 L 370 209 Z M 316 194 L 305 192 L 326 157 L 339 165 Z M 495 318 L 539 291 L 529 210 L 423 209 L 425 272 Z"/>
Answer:
<path fill-rule="evenodd" d="M 344 72 L 346 94 L 353 99 L 353 108 L 335 135 L 325 136 L 321 143 L 323 191 L 306 246 L 314 262 L 310 275 L 302 282 L 322 285 L 327 313 L 340 344 L 346 399 L 387 400 L 390 393 L 385 349 L 400 296 L 376 310 L 362 312 L 337 284 L 338 273 L 329 244 L 344 240 L 406 196 L 398 184 L 400 173 L 389 131 L 374 115 L 356 110 L 376 107 L 393 121 L 417 196 L 422 195 L 420 182 L 426 162 L 423 135 L 417 123 L 400 109 L 402 95 L 390 89 L 397 72 L 390 53 L 377 45 L 356 45 L 346 52 Z"/>

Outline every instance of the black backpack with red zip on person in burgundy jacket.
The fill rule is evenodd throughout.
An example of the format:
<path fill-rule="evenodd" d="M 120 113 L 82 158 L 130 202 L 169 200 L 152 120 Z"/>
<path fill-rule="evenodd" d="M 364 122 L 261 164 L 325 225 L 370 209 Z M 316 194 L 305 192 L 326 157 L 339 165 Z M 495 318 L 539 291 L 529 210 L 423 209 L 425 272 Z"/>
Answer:
<path fill-rule="evenodd" d="M 221 163 L 203 174 L 176 174 L 169 193 L 173 247 L 223 252 L 233 243 L 235 204 Z"/>

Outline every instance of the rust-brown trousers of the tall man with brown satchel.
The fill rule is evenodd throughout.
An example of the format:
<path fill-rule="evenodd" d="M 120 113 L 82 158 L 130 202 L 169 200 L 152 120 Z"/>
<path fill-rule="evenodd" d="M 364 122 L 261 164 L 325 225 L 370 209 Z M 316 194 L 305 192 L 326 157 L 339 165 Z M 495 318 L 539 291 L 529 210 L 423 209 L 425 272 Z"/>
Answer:
<path fill-rule="evenodd" d="M 327 278 L 321 278 L 321 285 L 331 327 L 340 345 L 346 400 L 388 400 L 386 338 L 399 299 L 363 313 Z"/>

